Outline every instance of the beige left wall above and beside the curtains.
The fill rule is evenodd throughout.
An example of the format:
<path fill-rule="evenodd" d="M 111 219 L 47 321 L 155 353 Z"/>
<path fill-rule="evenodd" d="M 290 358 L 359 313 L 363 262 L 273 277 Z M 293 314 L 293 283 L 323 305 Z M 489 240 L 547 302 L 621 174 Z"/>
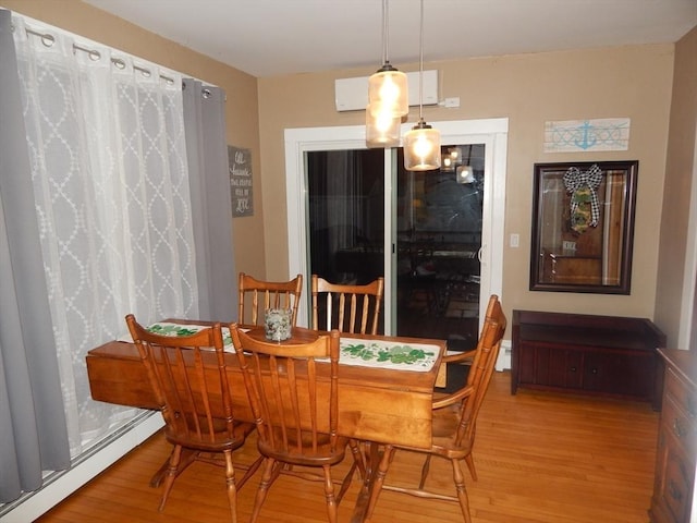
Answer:
<path fill-rule="evenodd" d="M 235 268 L 264 276 L 266 267 L 257 80 L 80 0 L 0 0 L 0 7 L 159 63 L 225 90 L 228 144 L 252 149 L 254 174 L 254 216 L 233 220 Z"/>

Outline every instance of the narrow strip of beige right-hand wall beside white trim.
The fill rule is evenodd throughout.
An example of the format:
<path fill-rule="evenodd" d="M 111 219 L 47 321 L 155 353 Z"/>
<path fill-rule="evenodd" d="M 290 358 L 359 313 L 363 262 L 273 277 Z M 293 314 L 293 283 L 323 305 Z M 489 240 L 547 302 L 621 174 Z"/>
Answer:
<path fill-rule="evenodd" d="M 656 321 L 665 331 L 670 345 L 676 343 L 680 332 L 692 183 L 697 175 L 696 141 L 697 27 L 675 46 L 656 301 Z M 697 329 L 697 325 L 693 328 Z"/>

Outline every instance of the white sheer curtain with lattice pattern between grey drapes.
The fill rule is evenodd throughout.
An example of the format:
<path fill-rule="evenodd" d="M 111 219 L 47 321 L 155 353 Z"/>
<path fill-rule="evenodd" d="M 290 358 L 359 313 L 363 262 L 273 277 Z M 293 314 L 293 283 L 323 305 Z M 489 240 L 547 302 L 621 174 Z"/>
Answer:
<path fill-rule="evenodd" d="M 87 351 L 122 336 L 126 313 L 198 317 L 182 78 L 12 24 L 74 457 L 134 415 L 91 400 Z"/>

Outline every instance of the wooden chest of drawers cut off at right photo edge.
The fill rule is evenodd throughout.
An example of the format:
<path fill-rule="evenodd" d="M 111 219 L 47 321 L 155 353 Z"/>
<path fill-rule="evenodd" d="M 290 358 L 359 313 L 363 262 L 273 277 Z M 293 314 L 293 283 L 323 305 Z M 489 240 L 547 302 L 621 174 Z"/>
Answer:
<path fill-rule="evenodd" d="M 697 353 L 659 349 L 665 362 L 663 410 L 658 430 L 652 523 L 687 523 L 697 461 Z"/>

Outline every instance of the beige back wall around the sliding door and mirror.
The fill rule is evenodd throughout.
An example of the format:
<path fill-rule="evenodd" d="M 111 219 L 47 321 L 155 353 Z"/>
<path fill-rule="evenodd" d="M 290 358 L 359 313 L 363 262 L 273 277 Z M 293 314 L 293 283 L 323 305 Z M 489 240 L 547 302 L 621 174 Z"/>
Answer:
<path fill-rule="evenodd" d="M 509 56 L 427 63 L 440 71 L 440 95 L 460 97 L 458 109 L 425 108 L 428 122 L 508 117 L 506 238 L 502 301 L 512 308 L 653 317 L 659 227 L 673 78 L 673 45 Z M 405 71 L 415 64 L 401 65 Z M 259 80 L 267 269 L 288 273 L 283 130 L 356 125 L 362 111 L 338 113 L 334 78 L 371 69 Z M 627 151 L 545 154 L 548 120 L 631 118 Z M 412 111 L 411 121 L 415 121 Z M 638 194 L 632 294 L 628 296 L 528 291 L 533 165 L 551 161 L 638 159 Z M 503 219 L 503 217 L 501 217 Z M 506 242 L 508 245 L 508 242 Z M 510 336 L 510 332 L 509 335 Z"/>

